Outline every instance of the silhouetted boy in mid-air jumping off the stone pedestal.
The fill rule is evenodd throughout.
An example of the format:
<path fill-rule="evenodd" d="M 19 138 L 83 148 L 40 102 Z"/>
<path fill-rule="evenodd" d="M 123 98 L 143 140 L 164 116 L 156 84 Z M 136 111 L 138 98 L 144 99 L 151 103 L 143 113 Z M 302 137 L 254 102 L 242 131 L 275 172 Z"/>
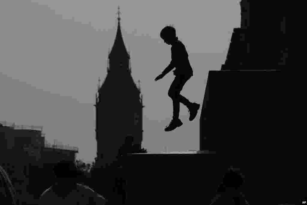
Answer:
<path fill-rule="evenodd" d="M 183 43 L 178 40 L 178 37 L 176 37 L 175 28 L 172 26 L 165 26 L 160 32 L 160 37 L 166 44 L 172 45 L 172 61 L 164 69 L 164 71 L 156 77 L 155 81 L 163 78 L 167 73 L 176 67 L 176 69 L 173 71 L 175 79 L 168 92 L 169 97 L 173 100 L 173 119 L 164 129 L 166 132 L 168 132 L 182 125 L 182 122 L 179 119 L 180 102 L 187 106 L 188 111 L 190 112 L 190 121 L 194 120 L 196 117 L 200 104 L 192 103 L 180 94 L 185 83 L 193 76 L 193 70 L 188 60 L 188 52 L 185 49 L 185 45 L 183 45 Z"/>

